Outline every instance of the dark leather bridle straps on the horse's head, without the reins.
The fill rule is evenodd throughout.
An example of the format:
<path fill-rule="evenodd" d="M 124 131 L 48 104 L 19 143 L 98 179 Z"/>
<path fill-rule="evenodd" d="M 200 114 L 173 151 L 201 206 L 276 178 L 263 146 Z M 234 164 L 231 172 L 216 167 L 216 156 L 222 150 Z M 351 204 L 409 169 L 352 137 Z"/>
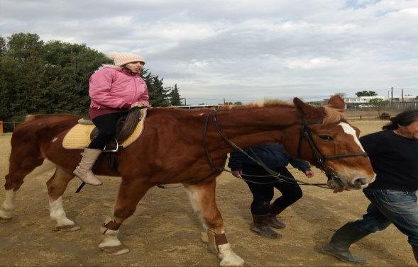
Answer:
<path fill-rule="evenodd" d="M 308 127 L 308 125 L 314 125 L 314 124 L 321 124 L 322 122 L 316 121 L 316 122 L 307 122 L 303 117 L 301 120 L 302 129 L 300 130 L 299 135 L 299 142 L 297 144 L 297 157 L 300 158 L 302 154 L 302 141 L 304 139 L 307 140 L 309 147 L 312 149 L 312 152 L 314 154 L 314 161 L 315 166 L 322 171 L 324 171 L 324 174 L 328 179 L 335 178 L 339 179 L 338 175 L 336 174 L 336 171 L 331 168 L 331 166 L 328 166 L 325 164 L 325 161 L 330 161 L 334 159 L 344 159 L 344 158 L 350 158 L 350 157 L 368 157 L 367 153 L 365 152 L 359 152 L 359 153 L 347 153 L 347 154 L 337 154 L 333 156 L 325 156 L 321 153 L 319 148 L 317 147 L 317 144 L 315 144 L 314 140 L 312 139 L 312 133 L 311 129 Z"/>

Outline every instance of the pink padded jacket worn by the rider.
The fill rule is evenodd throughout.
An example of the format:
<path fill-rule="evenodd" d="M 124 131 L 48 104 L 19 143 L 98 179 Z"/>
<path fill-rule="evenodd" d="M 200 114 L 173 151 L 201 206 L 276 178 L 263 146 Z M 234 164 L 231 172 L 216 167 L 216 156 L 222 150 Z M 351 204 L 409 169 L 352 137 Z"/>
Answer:
<path fill-rule="evenodd" d="M 148 106 L 148 90 L 138 74 L 104 65 L 89 79 L 90 108 L 131 108 L 135 102 Z"/>

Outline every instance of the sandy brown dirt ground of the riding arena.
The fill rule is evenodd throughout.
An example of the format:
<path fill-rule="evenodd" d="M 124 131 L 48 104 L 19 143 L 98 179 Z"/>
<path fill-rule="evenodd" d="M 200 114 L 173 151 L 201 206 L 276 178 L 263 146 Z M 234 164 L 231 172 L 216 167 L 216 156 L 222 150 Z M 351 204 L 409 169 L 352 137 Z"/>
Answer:
<path fill-rule="evenodd" d="M 362 134 L 375 132 L 382 121 L 353 122 Z M 0 177 L 8 171 L 11 135 L 0 136 Z M 315 169 L 312 179 L 290 169 L 304 181 L 325 182 Z M 104 254 L 98 244 L 99 225 L 111 215 L 119 178 L 102 177 L 101 187 L 86 186 L 79 194 L 73 180 L 63 195 L 67 217 L 82 227 L 78 232 L 53 232 L 49 219 L 45 182 L 53 175 L 44 164 L 26 177 L 16 196 L 16 215 L 0 224 L 0 266 L 219 266 L 214 254 L 200 239 L 202 227 L 192 213 L 183 188 L 151 189 L 136 213 L 121 227 L 121 241 L 128 254 Z M 333 194 L 302 186 L 304 196 L 282 213 L 286 229 L 282 239 L 264 239 L 249 230 L 251 193 L 243 181 L 230 174 L 218 178 L 217 203 L 224 218 L 226 235 L 233 250 L 248 266 L 350 266 L 321 254 L 320 246 L 336 229 L 363 215 L 368 200 L 361 191 Z M 276 193 L 275 197 L 280 193 Z M 4 188 L 0 189 L 4 200 Z M 392 225 L 352 246 L 368 266 L 415 266 L 407 237 Z"/>

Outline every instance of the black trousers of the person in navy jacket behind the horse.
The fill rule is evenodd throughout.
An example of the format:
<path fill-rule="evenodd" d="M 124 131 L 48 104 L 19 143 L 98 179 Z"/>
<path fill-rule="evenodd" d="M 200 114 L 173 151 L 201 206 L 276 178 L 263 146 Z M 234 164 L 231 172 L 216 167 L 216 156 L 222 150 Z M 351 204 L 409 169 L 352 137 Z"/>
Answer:
<path fill-rule="evenodd" d="M 295 178 L 285 167 L 280 169 L 273 169 L 273 171 L 286 177 L 290 177 L 293 181 L 295 181 Z M 282 208 L 283 210 L 302 198 L 302 190 L 296 181 L 295 183 L 278 182 L 277 179 L 273 178 L 272 176 L 260 178 L 246 176 L 246 174 L 255 176 L 269 176 L 270 174 L 268 174 L 268 172 L 260 166 L 243 166 L 243 178 L 249 180 L 246 181 L 246 183 L 248 184 L 251 193 L 253 193 L 253 203 L 251 203 L 251 213 L 253 215 L 268 214 L 270 202 L 273 200 L 274 196 L 274 188 L 277 188 L 280 193 L 282 193 L 282 195 L 280 198 L 277 198 L 271 205 L 275 205 L 278 208 Z M 251 183 L 251 181 L 255 181 L 257 183 Z M 258 184 L 266 182 L 268 182 L 268 184 Z"/>

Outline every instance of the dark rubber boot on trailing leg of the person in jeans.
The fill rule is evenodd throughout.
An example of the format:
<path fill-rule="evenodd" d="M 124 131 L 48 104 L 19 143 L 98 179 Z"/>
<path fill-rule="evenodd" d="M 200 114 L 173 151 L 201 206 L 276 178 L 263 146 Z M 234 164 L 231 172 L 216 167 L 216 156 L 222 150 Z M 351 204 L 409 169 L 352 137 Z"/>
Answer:
<path fill-rule="evenodd" d="M 335 232 L 329 244 L 324 245 L 322 250 L 346 263 L 365 264 L 364 259 L 351 255 L 349 248 L 368 234 L 370 232 L 362 232 L 348 222 Z"/>

